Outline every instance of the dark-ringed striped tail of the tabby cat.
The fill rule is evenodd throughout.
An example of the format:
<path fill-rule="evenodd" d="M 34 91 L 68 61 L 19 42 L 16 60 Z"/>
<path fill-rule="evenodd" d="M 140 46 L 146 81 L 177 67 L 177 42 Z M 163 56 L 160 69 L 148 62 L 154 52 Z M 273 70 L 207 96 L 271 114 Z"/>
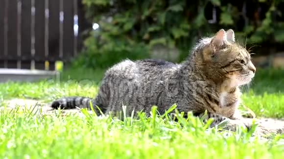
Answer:
<path fill-rule="evenodd" d="M 57 99 L 52 102 L 51 107 L 53 109 L 74 109 L 76 107 L 79 108 L 91 108 L 90 104 L 92 102 L 93 108 L 95 108 L 95 103 L 92 99 L 87 97 L 64 97 L 61 99 Z"/>

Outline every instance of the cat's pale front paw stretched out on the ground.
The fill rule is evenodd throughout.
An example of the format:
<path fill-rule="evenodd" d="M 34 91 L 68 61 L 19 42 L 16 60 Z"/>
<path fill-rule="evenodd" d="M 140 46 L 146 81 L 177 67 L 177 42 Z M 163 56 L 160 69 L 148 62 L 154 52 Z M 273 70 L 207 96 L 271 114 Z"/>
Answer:
<path fill-rule="evenodd" d="M 236 131 L 237 128 L 246 128 L 248 130 L 252 127 L 252 122 L 246 119 L 228 119 L 228 123 L 224 126 L 225 130 Z"/>

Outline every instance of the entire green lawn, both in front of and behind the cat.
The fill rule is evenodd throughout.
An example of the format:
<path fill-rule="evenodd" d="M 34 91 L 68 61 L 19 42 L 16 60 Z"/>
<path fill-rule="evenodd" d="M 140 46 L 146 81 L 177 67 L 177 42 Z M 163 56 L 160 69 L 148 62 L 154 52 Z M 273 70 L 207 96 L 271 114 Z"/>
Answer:
<path fill-rule="evenodd" d="M 32 98 L 46 102 L 62 96 L 94 97 L 104 70 L 70 70 L 60 80 L 0 84 L 0 98 Z M 242 99 L 258 117 L 284 118 L 284 71 L 258 70 Z M 4 104 L 2 104 L 4 106 Z M 252 131 L 236 133 L 207 125 L 189 115 L 178 121 L 159 117 L 124 121 L 83 116 L 34 115 L 18 109 L 1 110 L 0 158 L 284 158 L 284 135 L 268 141 L 251 137 Z M 180 114 L 179 114 L 180 115 Z"/>

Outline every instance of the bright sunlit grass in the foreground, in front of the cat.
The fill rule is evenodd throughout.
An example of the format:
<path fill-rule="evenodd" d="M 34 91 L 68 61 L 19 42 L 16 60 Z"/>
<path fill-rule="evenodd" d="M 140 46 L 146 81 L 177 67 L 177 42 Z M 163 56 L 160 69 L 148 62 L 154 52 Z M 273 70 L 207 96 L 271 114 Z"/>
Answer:
<path fill-rule="evenodd" d="M 154 111 L 153 111 L 154 112 Z M 180 122 L 180 123 L 179 123 Z M 33 116 L 1 112 L 0 158 L 9 159 L 281 159 L 277 136 L 268 142 L 251 132 L 208 129 L 200 120 L 85 116 Z M 183 124 L 181 124 L 183 123 Z M 277 142 L 278 141 L 278 142 Z"/>

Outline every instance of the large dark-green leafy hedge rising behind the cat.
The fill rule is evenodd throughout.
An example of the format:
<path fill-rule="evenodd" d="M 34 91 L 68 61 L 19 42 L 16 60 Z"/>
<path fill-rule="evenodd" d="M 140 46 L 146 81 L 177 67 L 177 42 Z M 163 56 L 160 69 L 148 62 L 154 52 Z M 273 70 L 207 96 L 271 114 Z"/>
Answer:
<path fill-rule="evenodd" d="M 183 60 L 197 39 L 220 28 L 234 29 L 248 46 L 283 42 L 282 1 L 83 0 L 86 17 L 100 28 L 90 33 L 77 64 L 106 67 L 146 58 L 157 44 L 178 48 Z"/>

